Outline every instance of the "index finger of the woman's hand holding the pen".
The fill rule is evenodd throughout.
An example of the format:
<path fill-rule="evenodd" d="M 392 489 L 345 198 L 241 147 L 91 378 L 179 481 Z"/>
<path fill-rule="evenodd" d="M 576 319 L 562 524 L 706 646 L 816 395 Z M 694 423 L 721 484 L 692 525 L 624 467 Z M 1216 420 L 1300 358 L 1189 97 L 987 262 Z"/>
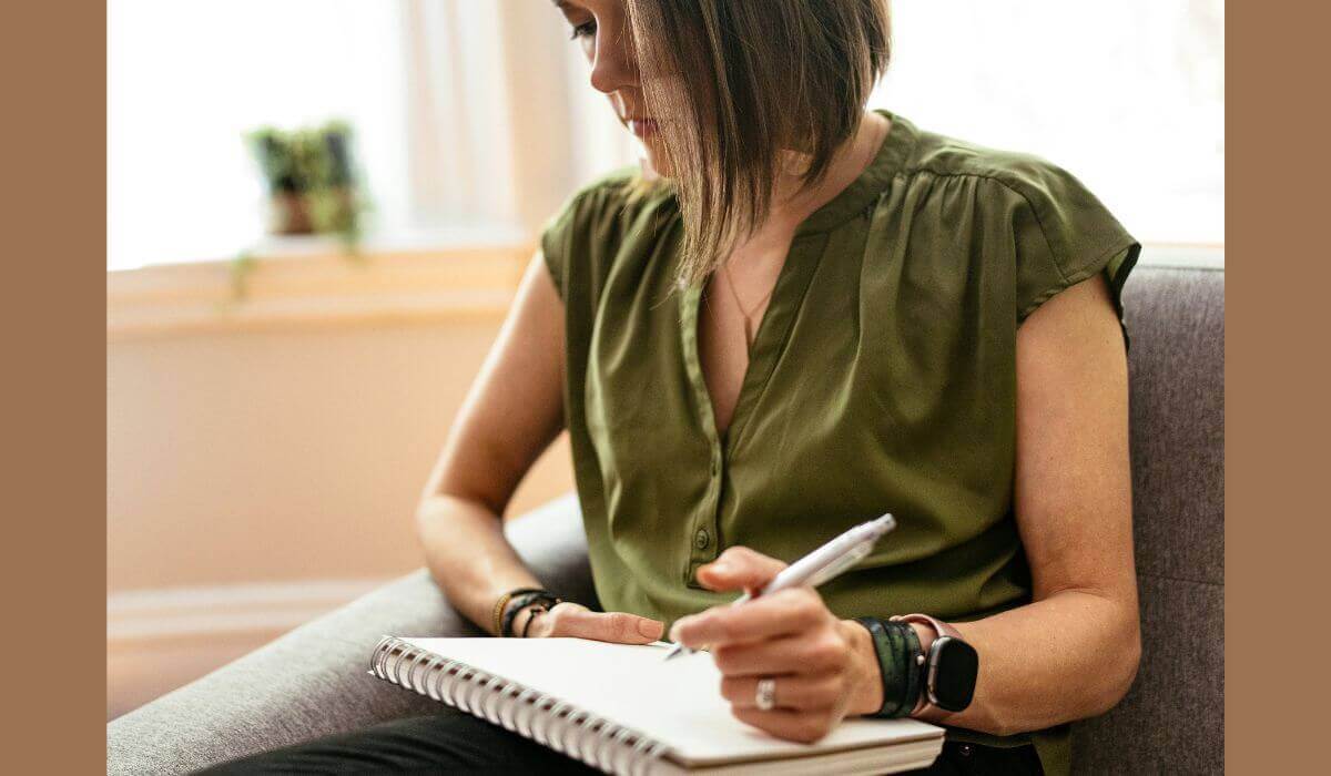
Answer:
<path fill-rule="evenodd" d="M 787 634 L 803 634 L 828 619 L 827 604 L 811 587 L 791 587 L 740 606 L 715 606 L 680 618 L 671 639 L 685 647 L 712 647 L 760 642 Z"/>

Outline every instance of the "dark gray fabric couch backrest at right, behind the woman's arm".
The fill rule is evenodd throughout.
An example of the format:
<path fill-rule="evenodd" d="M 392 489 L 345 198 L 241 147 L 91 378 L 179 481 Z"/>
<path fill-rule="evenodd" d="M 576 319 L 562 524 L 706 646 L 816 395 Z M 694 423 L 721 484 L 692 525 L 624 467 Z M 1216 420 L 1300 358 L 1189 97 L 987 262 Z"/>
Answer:
<path fill-rule="evenodd" d="M 1225 769 L 1225 272 L 1142 266 L 1123 290 L 1142 663 L 1073 728 L 1078 773 Z"/>

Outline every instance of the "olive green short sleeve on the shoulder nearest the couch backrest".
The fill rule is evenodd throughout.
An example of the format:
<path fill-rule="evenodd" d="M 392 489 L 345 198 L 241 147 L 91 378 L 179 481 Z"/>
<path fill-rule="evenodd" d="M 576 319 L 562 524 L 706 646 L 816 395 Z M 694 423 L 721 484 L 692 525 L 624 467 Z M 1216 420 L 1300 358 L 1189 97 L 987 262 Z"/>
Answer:
<path fill-rule="evenodd" d="M 1013 214 L 1017 323 L 1095 273 L 1103 273 L 1122 323 L 1123 284 L 1142 249 L 1137 238 L 1081 181 L 1047 161 L 1024 157 L 1001 180 L 1021 197 Z"/>

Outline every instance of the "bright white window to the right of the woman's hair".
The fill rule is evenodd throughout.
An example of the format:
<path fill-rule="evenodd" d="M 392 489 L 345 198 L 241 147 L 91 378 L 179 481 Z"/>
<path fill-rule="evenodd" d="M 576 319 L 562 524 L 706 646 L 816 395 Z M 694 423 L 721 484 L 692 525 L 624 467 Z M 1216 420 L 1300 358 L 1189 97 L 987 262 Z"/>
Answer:
<path fill-rule="evenodd" d="M 1036 153 L 1143 242 L 1225 242 L 1222 0 L 897 0 L 870 105 Z"/>

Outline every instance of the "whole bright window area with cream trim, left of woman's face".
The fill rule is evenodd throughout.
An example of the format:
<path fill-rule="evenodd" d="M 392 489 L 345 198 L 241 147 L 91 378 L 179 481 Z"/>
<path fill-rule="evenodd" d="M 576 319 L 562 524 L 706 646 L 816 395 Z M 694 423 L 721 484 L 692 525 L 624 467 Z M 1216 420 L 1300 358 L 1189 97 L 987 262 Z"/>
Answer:
<path fill-rule="evenodd" d="M 110 0 L 108 269 L 220 260 L 264 236 L 242 142 L 345 118 L 371 241 L 530 238 L 635 158 L 550 4 Z"/>

